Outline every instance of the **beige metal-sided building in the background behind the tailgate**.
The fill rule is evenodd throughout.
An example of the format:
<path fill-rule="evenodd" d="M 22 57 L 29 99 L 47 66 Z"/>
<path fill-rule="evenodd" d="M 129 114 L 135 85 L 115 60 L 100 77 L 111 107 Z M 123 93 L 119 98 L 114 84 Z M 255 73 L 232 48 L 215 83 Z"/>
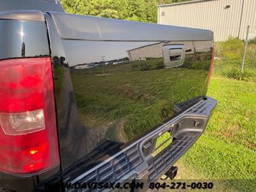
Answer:
<path fill-rule="evenodd" d="M 209 29 L 215 41 L 256 34 L 256 0 L 197 0 L 158 6 L 158 24 Z"/>

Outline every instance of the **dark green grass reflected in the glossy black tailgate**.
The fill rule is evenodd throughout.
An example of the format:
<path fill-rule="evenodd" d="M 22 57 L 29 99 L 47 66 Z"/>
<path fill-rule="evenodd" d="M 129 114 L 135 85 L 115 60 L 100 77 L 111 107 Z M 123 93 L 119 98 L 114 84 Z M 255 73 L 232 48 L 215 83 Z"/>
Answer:
<path fill-rule="evenodd" d="M 112 124 L 108 129 L 110 140 L 128 141 L 160 124 L 173 114 L 173 103 L 189 99 L 188 92 L 189 97 L 205 94 L 206 70 L 172 68 L 120 72 L 121 69 L 122 66 L 115 70 L 106 67 L 106 72 L 112 70 L 109 74 L 86 74 L 80 70 L 71 73 L 83 124 L 92 128 Z M 198 79 L 205 79 L 205 82 L 198 83 Z M 113 134 L 121 130 L 115 129 L 120 123 L 125 132 L 122 140 L 114 138 L 119 134 Z"/>

